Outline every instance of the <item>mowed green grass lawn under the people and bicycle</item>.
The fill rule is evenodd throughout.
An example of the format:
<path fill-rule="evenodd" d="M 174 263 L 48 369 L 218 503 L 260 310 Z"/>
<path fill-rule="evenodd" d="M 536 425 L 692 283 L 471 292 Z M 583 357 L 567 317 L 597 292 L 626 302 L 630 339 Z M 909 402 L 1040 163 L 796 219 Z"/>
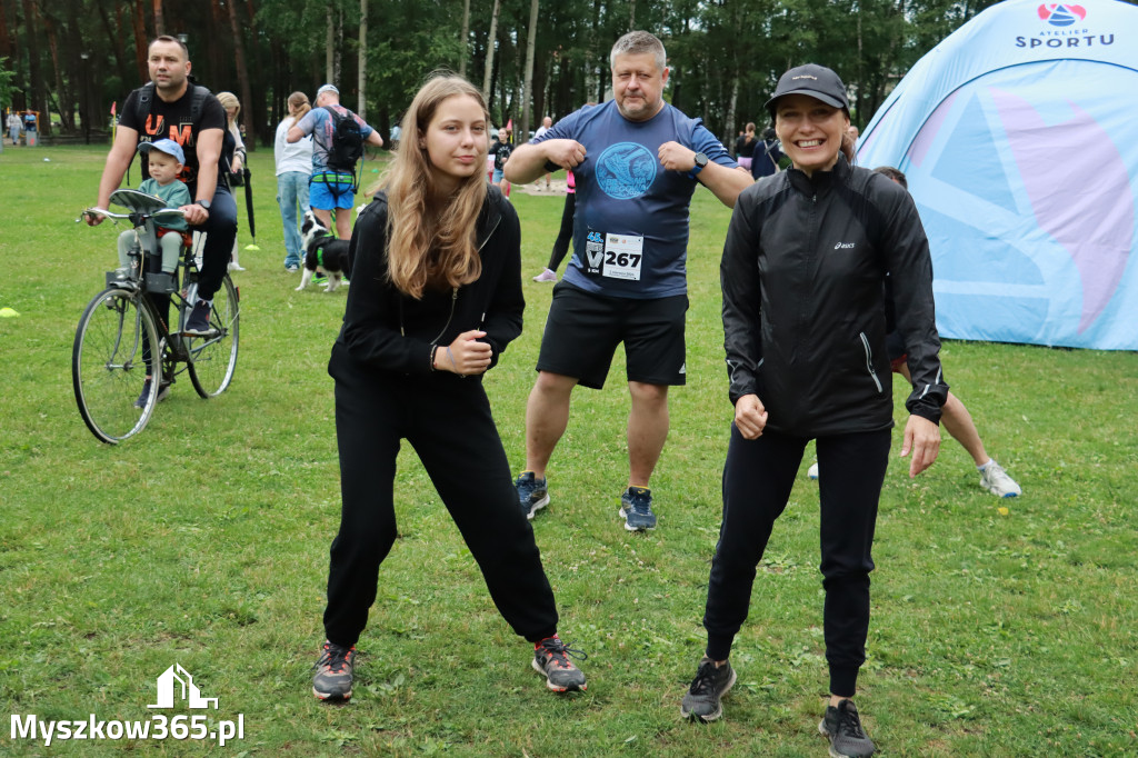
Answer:
<path fill-rule="evenodd" d="M 296 293 L 282 267 L 272 155 L 251 156 L 257 252 L 242 252 L 237 377 L 214 401 L 180 381 L 145 432 L 96 442 L 69 378 L 75 322 L 114 266 L 123 226 L 73 223 L 105 147 L 0 156 L 0 702 L 41 720 L 244 716 L 209 741 L 13 740 L 0 753 L 101 756 L 823 756 L 826 689 L 816 487 L 808 458 L 759 567 L 736 641 L 739 683 L 712 725 L 679 717 L 700 619 L 732 407 L 718 258 L 728 211 L 696 192 L 688 385 L 653 479 L 660 527 L 628 534 L 628 407 L 618 356 L 578 390 L 533 522 L 588 692 L 556 697 L 497 615 L 413 452 L 401 460 L 401 538 L 360 641 L 355 697 L 311 694 L 328 547 L 339 518 L 329 348 L 346 291 Z M 49 160 L 44 160 L 49 158 Z M 365 165 L 366 181 L 378 162 Z M 137 166 L 132 172 L 138 181 Z M 250 242 L 239 197 L 240 244 Z M 486 379 L 508 454 L 523 456 L 526 395 L 551 287 L 530 281 L 560 196 L 514 191 L 526 329 Z M 897 458 L 881 502 L 869 660 L 859 706 L 883 756 L 1138 752 L 1135 467 L 1138 355 L 951 341 L 946 376 L 988 450 L 1023 485 L 976 486 L 959 445 L 916 480 Z M 462 429 L 454 429 L 462 434 Z M 217 710 L 148 709 L 180 664 Z M 26 723 L 26 722 L 22 722 Z"/>

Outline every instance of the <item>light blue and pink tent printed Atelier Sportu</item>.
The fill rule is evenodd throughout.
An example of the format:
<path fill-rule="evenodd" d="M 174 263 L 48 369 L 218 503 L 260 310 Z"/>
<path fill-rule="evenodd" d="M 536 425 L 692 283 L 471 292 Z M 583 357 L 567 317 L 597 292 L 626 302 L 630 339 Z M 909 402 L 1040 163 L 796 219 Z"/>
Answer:
<path fill-rule="evenodd" d="M 992 6 L 901 80 L 857 162 L 908 178 L 942 336 L 1138 349 L 1138 7 Z"/>

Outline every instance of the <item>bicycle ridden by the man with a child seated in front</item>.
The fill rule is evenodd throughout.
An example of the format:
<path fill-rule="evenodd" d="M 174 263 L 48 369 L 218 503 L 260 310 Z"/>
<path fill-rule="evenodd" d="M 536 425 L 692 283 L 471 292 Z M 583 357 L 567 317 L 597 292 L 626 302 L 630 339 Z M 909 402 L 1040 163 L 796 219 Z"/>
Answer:
<path fill-rule="evenodd" d="M 200 264 L 193 248 L 183 246 L 173 273 L 145 266 L 162 255 L 158 224 L 181 219 L 182 212 L 131 189 L 116 190 L 110 201 L 127 213 L 88 208 L 83 215 L 130 221 L 135 232 L 130 267 L 108 271 L 106 288 L 83 311 L 72 346 L 72 384 L 86 427 L 99 440 L 117 444 L 146 428 L 155 405 L 183 372 L 203 398 L 225 392 L 237 366 L 240 294 L 225 274 L 214 295 L 208 335 L 181 333 L 197 299 Z M 166 327 L 156 296 L 176 305 L 176 330 Z"/>

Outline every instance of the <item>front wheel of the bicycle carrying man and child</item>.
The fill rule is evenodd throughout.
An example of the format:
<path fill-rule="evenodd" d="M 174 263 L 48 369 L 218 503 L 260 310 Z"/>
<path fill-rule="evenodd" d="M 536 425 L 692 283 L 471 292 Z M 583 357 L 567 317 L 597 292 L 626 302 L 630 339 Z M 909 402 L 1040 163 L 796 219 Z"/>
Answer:
<path fill-rule="evenodd" d="M 83 421 L 101 442 L 116 444 L 150 420 L 158 381 L 142 392 L 151 352 L 159 366 L 155 376 L 162 376 L 160 349 L 154 314 L 137 294 L 112 287 L 83 311 L 72 346 L 72 384 Z"/>

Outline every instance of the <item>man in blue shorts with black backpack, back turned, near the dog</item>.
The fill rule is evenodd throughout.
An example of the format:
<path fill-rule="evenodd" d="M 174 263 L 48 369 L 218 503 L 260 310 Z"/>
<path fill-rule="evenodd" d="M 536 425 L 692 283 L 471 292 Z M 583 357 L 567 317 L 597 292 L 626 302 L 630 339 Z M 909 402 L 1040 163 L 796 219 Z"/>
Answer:
<path fill-rule="evenodd" d="M 355 191 L 360 187 L 356 164 L 363 157 L 364 142 L 384 147 L 384 138 L 340 105 L 340 91 L 335 84 L 316 90 L 316 107 L 288 130 L 286 141 L 299 142 L 308 134 L 313 135 L 308 205 L 327 229 L 332 228 L 335 212 L 336 236 L 348 239 Z"/>

